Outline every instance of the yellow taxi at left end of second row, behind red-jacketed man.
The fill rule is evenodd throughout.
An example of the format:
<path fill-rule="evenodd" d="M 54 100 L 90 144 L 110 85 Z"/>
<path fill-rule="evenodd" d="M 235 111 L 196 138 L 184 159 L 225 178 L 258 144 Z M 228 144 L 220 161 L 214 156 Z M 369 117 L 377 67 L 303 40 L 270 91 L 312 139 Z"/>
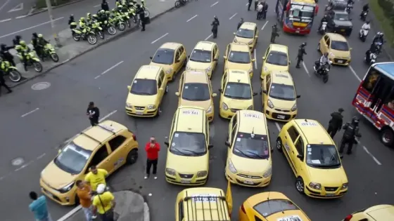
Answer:
<path fill-rule="evenodd" d="M 162 67 L 141 66 L 127 89 L 126 114 L 140 117 L 161 114 L 160 104 L 168 92 L 167 77 Z"/>

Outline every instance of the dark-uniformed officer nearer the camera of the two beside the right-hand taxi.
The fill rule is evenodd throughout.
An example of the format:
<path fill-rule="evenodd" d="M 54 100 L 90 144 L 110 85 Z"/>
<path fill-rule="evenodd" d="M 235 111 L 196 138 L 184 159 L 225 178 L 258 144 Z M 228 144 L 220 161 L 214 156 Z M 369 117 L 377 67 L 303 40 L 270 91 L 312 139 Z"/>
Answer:
<path fill-rule="evenodd" d="M 343 153 L 343 149 L 345 149 L 345 145 L 348 145 L 348 152 L 346 154 L 352 154 L 353 144 L 357 143 L 355 137 L 361 138 L 361 134 L 359 132 L 358 123 L 360 119 L 357 116 L 353 116 L 351 123 L 346 123 L 342 128 L 345 130 L 343 132 L 343 137 L 341 141 L 341 148 L 339 148 L 339 153 Z"/>

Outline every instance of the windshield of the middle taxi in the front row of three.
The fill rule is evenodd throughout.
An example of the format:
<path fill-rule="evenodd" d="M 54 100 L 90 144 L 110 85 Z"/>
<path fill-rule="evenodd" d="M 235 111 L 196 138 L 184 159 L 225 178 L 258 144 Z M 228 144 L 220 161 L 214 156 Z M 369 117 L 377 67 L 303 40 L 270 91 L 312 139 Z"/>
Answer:
<path fill-rule="evenodd" d="M 250 159 L 269 159 L 267 135 L 237 133 L 233 154 Z"/>

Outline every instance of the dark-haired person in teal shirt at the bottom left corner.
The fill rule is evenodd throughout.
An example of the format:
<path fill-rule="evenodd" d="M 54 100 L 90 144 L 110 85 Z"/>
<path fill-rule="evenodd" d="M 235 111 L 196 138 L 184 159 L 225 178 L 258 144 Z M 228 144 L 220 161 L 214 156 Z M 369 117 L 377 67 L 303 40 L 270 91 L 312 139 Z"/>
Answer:
<path fill-rule="evenodd" d="M 46 197 L 39 196 L 36 192 L 30 192 L 30 199 L 32 203 L 29 205 L 30 211 L 34 213 L 36 221 L 52 221 L 51 214 L 48 212 L 48 206 L 46 206 Z"/>

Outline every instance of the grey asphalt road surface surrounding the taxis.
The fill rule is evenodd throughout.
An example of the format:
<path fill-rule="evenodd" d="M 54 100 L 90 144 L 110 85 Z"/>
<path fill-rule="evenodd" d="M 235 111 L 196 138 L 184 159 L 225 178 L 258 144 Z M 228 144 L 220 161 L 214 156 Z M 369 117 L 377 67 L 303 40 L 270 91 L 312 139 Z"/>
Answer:
<path fill-rule="evenodd" d="M 174 93 L 178 82 L 170 84 L 170 93 L 163 101 L 163 114 L 158 119 L 134 119 L 126 116 L 127 84 L 131 83 L 134 73 L 141 65 L 148 64 L 149 56 L 153 55 L 162 43 L 167 41 L 183 43 L 187 52 L 190 53 L 198 41 L 209 39 L 218 43 L 220 53 L 223 55 L 227 43 L 234 39 L 232 33 L 236 31 L 239 19 L 243 17 L 245 21 L 256 21 L 255 12 L 246 11 L 245 1 L 220 1 L 217 4 L 215 2 L 196 1 L 177 11 L 167 13 L 148 25 L 146 32 L 135 32 L 101 46 L 58 69 L 53 69 L 49 74 L 15 88 L 15 93 L 1 97 L 0 122 L 6 126 L 0 128 L 0 134 L 2 146 L 7 148 L 7 151 L 2 152 L 0 161 L 0 177 L 3 176 L 0 179 L 0 193 L 3 196 L 0 213 L 4 214 L 4 220 L 30 220 L 32 218 L 27 210 L 27 203 L 29 203 L 27 192 L 39 190 L 39 174 L 55 156 L 55 148 L 68 140 L 70 136 L 89 126 L 89 121 L 84 116 L 84 110 L 89 101 L 96 102 L 101 109 L 102 116 L 117 110 L 108 119 L 119 121 L 135 131 L 140 147 L 144 147 L 144 143 L 151 135 L 155 135 L 158 141 L 163 143 L 164 137 L 170 130 L 174 110 L 177 108 L 177 97 Z M 271 8 L 269 8 L 267 24 L 265 25 L 264 20 L 257 21 L 258 27 L 260 29 L 264 27 L 264 29 L 260 30 L 256 51 L 258 68 L 255 69 L 253 76 L 255 92 L 258 92 L 260 88 L 262 54 L 269 45 L 270 27 L 276 22 L 274 12 L 271 10 L 274 7 L 274 1 L 271 0 L 268 3 Z M 215 6 L 210 7 L 211 4 Z M 326 2 L 320 3 L 320 8 L 324 4 Z M 354 14 L 356 15 L 359 11 L 360 6 L 357 2 Z M 195 15 L 197 15 L 195 18 L 189 20 Z M 210 22 L 214 15 L 220 19 L 218 39 L 208 38 L 211 34 Z M 322 11 L 319 12 L 317 20 L 321 16 Z M 315 22 L 314 29 L 317 29 L 317 23 Z M 361 25 L 362 23 L 354 16 L 355 30 L 348 38 L 352 47 L 352 67 L 333 67 L 329 82 L 326 84 L 312 73 L 314 60 L 320 56 L 316 51 L 317 42 L 321 38 L 319 34 L 315 32 L 309 36 L 281 34 L 277 39 L 277 43 L 283 43 L 289 47 L 292 61 L 291 74 L 293 74 L 297 93 L 301 95 L 298 100 L 299 118 L 316 119 L 326 125 L 329 121 L 329 114 L 338 107 L 345 109 L 346 120 L 350 120 L 355 114 L 351 100 L 360 79 L 367 71 L 367 65 L 363 63 L 363 55 L 368 43 L 362 43 L 357 39 L 357 32 Z M 368 37 L 369 41 L 371 37 Z M 308 43 L 307 55 L 305 55 L 306 69 L 295 69 L 295 55 L 298 46 L 304 41 Z M 379 61 L 387 60 L 388 58 L 384 55 L 379 58 Z M 123 62 L 120 65 L 114 67 L 121 61 Z M 222 71 L 223 63 L 220 59 L 220 64 L 212 77 L 215 91 L 220 86 Z M 34 83 L 39 82 L 49 82 L 51 86 L 42 91 L 32 91 L 31 87 Z M 217 98 L 216 106 L 218 102 Z M 215 109 L 218 110 L 219 107 Z M 262 109 L 260 95 L 255 97 L 255 109 Z M 27 114 L 29 112 L 31 113 Z M 208 187 L 225 189 L 227 186 L 224 178 L 224 157 L 227 152 L 224 141 L 227 126 L 228 121 L 220 119 L 217 113 L 211 125 L 212 143 L 215 147 L 211 152 Z M 269 121 L 272 145 L 275 143 L 280 126 L 281 123 Z M 342 199 L 315 200 L 298 194 L 294 187 L 295 178 L 284 156 L 281 156 L 279 152 L 274 152 L 273 180 L 269 187 L 252 189 L 233 185 L 234 217 L 237 217 L 238 207 L 248 196 L 262 191 L 283 192 L 300 208 L 303 208 L 312 220 L 319 221 L 341 220 L 354 210 L 375 204 L 394 204 L 392 194 L 390 195 L 394 175 L 389 172 L 394 168 L 392 160 L 394 152 L 381 145 L 376 130 L 367 121 L 363 120 L 360 128 L 363 135 L 361 144 L 355 149 L 355 154 L 345 155 L 343 159 L 350 190 Z M 342 133 L 336 135 L 336 142 L 340 141 L 341 135 Z M 164 180 L 165 146 L 163 145 L 163 151 L 160 153 L 158 180 L 143 180 L 145 154 L 144 151 L 140 153 L 141 159 L 136 166 L 123 168 L 120 173 L 116 173 L 110 179 L 110 185 L 115 189 L 141 187 L 144 194 L 153 194 L 148 198 L 153 220 L 174 220 L 174 201 L 177 193 L 184 187 L 169 185 Z M 12 166 L 12 159 L 18 157 L 22 157 L 27 166 L 21 169 L 18 169 L 18 166 Z M 70 210 L 52 202 L 49 206 L 55 219 Z"/>

